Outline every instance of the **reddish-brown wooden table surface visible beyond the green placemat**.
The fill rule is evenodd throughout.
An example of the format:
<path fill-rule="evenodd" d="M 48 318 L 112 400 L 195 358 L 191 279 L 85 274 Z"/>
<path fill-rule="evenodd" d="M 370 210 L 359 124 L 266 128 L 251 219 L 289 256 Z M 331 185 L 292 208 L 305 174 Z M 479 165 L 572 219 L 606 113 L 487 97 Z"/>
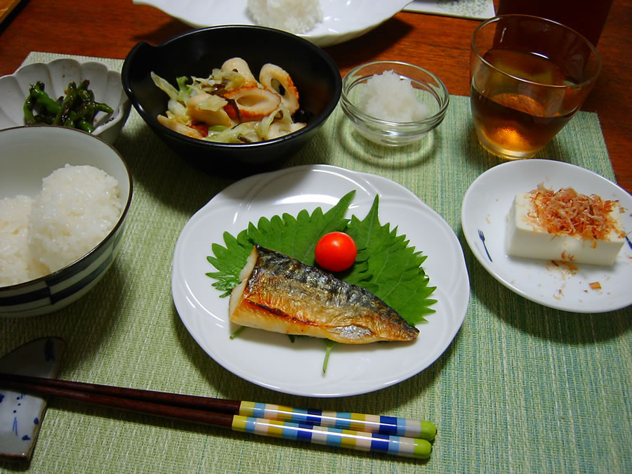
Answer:
<path fill-rule="evenodd" d="M 632 192 L 630 61 L 632 0 L 615 0 L 598 44 L 603 71 L 583 110 L 598 112 L 614 173 Z M 370 60 L 414 62 L 435 72 L 452 94 L 467 96 L 469 41 L 478 20 L 398 13 L 364 36 L 327 52 L 341 74 Z M 138 41 L 157 44 L 189 30 L 184 23 L 131 0 L 22 0 L 0 25 L 0 75 L 31 51 L 126 57 Z"/>

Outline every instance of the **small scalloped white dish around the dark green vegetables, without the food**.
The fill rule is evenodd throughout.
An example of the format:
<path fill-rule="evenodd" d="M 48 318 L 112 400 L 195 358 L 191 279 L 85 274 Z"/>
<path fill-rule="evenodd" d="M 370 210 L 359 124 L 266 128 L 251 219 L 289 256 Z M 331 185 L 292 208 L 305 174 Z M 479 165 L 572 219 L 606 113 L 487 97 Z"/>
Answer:
<path fill-rule="evenodd" d="M 36 81 L 44 82 L 51 98 L 65 95 L 71 81 L 90 81 L 95 100 L 114 109 L 113 114 L 99 112 L 95 117 L 96 135 L 108 143 L 114 143 L 123 128 L 131 108 L 121 84 L 121 73 L 111 70 L 103 62 L 79 62 L 60 58 L 51 62 L 35 62 L 20 67 L 13 74 L 0 77 L 0 129 L 24 125 L 22 107 L 29 95 L 29 87 Z"/>

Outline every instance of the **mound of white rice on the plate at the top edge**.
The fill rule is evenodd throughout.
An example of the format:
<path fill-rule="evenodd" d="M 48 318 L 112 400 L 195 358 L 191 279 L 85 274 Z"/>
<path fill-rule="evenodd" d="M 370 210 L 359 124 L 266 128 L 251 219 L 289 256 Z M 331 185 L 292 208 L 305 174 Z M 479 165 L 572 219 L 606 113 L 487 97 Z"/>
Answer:
<path fill-rule="evenodd" d="M 319 0 L 248 0 L 248 11 L 257 25 L 306 33 L 322 22 Z"/>

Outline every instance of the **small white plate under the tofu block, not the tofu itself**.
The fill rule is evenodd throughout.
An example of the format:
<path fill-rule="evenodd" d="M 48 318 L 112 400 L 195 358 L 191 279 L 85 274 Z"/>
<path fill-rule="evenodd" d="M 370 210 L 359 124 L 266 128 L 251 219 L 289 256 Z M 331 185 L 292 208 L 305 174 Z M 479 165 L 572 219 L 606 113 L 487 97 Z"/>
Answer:
<path fill-rule="evenodd" d="M 560 265 L 551 261 L 509 257 L 505 251 L 506 217 L 518 192 L 529 192 L 543 183 L 559 190 L 573 187 L 586 195 L 619 199 L 626 232 L 632 230 L 632 196 L 593 171 L 546 159 L 525 159 L 494 166 L 470 185 L 461 208 L 463 233 L 480 264 L 525 298 L 550 308 L 572 312 L 606 312 L 632 304 L 632 247 L 626 242 L 610 266 Z M 485 235 L 485 246 L 478 231 Z M 591 289 L 599 282 L 602 289 Z"/>

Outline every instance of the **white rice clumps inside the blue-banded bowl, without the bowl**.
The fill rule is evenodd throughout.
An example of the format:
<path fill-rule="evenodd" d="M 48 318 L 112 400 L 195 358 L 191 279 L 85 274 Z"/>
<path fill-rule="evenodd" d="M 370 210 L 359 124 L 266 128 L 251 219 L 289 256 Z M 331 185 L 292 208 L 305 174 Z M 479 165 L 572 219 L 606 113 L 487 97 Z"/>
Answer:
<path fill-rule="evenodd" d="M 35 199 L 0 201 L 0 286 L 26 282 L 84 256 L 121 216 L 118 182 L 93 166 L 70 166 L 42 180 Z"/>

